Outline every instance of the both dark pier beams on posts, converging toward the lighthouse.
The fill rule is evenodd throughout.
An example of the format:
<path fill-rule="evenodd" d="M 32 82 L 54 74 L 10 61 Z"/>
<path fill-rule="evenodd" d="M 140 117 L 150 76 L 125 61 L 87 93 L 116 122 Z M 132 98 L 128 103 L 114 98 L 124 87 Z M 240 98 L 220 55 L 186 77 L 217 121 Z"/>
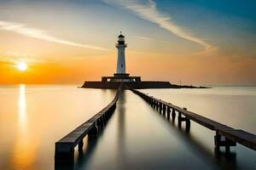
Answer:
<path fill-rule="evenodd" d="M 116 102 L 119 99 L 122 88 L 125 89 L 125 83 L 122 83 L 119 86 L 113 101 L 109 105 L 55 143 L 55 163 L 73 163 L 74 148 L 79 145 L 79 152 L 83 151 L 84 137 L 86 135 L 96 135 L 99 130 L 106 125 L 108 119 L 113 114 L 113 110 L 115 109 Z M 171 103 L 167 103 L 161 99 L 156 99 L 153 96 L 149 96 L 148 94 L 144 94 L 135 89 L 131 88 L 130 90 L 134 94 L 142 97 L 156 111 L 159 111 L 160 114 L 166 116 L 166 118 L 170 119 L 172 116 L 173 122 L 177 116 L 178 127 L 181 128 L 182 123 L 185 122 L 185 129 L 187 132 L 189 132 L 191 120 L 199 123 L 201 126 L 215 131 L 216 135 L 214 136 L 214 143 L 216 150 L 219 150 L 220 146 L 224 146 L 225 151 L 230 152 L 230 146 L 236 146 L 236 143 L 242 144 L 252 150 L 256 150 L 256 135 L 253 133 L 247 133 L 240 129 L 228 127 L 222 123 L 212 121 L 205 116 L 200 116 L 192 111 L 188 111 L 186 108 L 172 105 Z"/>

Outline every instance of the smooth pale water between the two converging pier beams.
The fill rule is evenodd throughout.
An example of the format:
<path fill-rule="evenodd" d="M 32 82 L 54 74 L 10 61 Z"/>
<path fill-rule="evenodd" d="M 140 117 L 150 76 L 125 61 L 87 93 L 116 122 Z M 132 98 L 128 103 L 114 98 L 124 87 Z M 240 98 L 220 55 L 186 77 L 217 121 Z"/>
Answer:
<path fill-rule="evenodd" d="M 245 165 L 243 156 L 255 153 L 238 146 L 230 154 L 217 152 L 213 144 L 214 133 L 192 122 L 189 132 L 178 128 L 177 122 L 166 119 L 152 107 L 125 91 L 118 101 L 106 128 L 99 136 L 87 139 L 84 155 L 74 169 L 239 169 Z M 86 140 L 86 139 L 85 139 Z"/>

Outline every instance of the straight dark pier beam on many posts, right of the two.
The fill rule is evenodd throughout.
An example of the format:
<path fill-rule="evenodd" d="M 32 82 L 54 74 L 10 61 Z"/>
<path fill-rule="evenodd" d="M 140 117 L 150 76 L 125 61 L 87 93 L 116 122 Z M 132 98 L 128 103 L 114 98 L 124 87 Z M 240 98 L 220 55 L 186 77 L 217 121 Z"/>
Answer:
<path fill-rule="evenodd" d="M 182 122 L 185 122 L 186 131 L 189 131 L 190 120 L 216 131 L 214 144 L 218 150 L 220 146 L 225 146 L 225 150 L 230 151 L 230 146 L 236 146 L 236 143 L 242 144 L 252 150 L 256 150 L 256 135 L 253 133 L 247 133 L 240 129 L 228 127 L 222 123 L 212 121 L 205 116 L 200 116 L 192 111 L 188 111 L 186 108 L 172 105 L 171 103 L 156 99 L 153 96 L 149 96 L 148 94 L 144 94 L 135 89 L 131 89 L 131 91 L 146 100 L 149 105 L 154 107 L 157 111 L 160 111 L 164 116 L 167 114 L 168 119 L 170 119 L 170 114 L 172 114 L 172 121 L 174 121 L 177 114 L 178 127 L 181 127 Z"/>

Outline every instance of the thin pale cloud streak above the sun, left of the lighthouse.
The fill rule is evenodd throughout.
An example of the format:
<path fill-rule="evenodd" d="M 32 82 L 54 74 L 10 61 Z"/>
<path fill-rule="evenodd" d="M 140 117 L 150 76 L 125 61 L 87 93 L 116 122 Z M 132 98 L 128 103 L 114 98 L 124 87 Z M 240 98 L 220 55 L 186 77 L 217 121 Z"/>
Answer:
<path fill-rule="evenodd" d="M 87 45 L 87 44 L 81 44 L 77 42 L 70 42 L 67 40 L 60 39 L 58 37 L 53 37 L 49 35 L 46 31 L 36 29 L 36 28 L 31 28 L 28 26 L 25 26 L 24 24 L 17 23 L 17 22 L 9 22 L 5 20 L 0 20 L 0 30 L 4 31 L 13 31 L 15 33 L 18 33 L 20 35 L 26 36 L 26 37 L 32 37 L 32 38 L 37 38 L 40 40 L 48 41 L 48 42 L 56 42 L 56 43 L 61 43 L 65 45 L 70 45 L 70 46 L 76 46 L 76 47 L 81 47 L 81 48 L 91 48 L 91 49 L 96 49 L 96 50 L 102 50 L 102 51 L 107 51 L 107 48 L 102 48 L 102 47 L 97 47 L 93 45 Z"/>

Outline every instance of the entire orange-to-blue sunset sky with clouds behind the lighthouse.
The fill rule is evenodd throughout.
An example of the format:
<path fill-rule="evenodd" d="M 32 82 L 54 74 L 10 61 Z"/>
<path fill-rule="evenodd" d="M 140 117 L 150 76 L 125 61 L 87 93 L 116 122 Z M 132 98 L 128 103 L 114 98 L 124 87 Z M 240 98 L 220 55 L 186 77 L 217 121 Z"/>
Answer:
<path fill-rule="evenodd" d="M 255 8 L 254 0 L 0 0 L 0 83 L 111 76 L 122 31 L 132 76 L 256 85 Z"/>

